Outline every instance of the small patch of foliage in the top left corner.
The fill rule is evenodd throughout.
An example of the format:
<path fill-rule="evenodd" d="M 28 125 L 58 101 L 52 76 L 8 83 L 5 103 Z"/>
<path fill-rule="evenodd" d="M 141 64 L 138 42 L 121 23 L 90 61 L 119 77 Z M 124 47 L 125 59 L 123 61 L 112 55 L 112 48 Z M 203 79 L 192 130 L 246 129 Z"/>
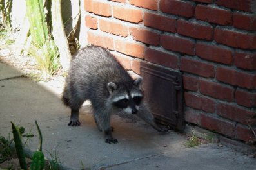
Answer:
<path fill-rule="evenodd" d="M 11 24 L 11 12 L 12 12 L 12 0 L 0 0 L 1 11 L 1 24 L 6 28 L 12 28 Z"/>

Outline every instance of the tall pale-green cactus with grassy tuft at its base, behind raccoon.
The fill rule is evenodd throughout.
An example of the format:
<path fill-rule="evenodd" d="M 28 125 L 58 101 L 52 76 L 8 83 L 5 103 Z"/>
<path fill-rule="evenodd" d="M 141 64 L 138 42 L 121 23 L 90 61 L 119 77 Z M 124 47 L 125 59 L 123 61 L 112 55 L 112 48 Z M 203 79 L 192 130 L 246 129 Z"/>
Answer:
<path fill-rule="evenodd" d="M 60 65 L 59 51 L 49 34 L 48 25 L 46 24 L 43 1 L 26 0 L 26 10 L 30 22 L 30 36 L 32 37 L 28 53 L 36 58 L 43 76 L 48 77 L 48 75 L 57 72 Z"/>

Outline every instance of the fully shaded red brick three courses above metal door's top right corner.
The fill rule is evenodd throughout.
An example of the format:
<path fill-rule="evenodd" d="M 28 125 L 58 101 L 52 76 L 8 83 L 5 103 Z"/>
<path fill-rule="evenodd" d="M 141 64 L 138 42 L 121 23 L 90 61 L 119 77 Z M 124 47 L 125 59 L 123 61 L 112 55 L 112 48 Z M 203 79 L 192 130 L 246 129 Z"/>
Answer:
<path fill-rule="evenodd" d="M 179 19 L 177 21 L 177 32 L 181 35 L 186 35 L 192 38 L 202 40 L 213 40 L 213 27 L 204 26 L 195 22 L 184 21 Z"/>

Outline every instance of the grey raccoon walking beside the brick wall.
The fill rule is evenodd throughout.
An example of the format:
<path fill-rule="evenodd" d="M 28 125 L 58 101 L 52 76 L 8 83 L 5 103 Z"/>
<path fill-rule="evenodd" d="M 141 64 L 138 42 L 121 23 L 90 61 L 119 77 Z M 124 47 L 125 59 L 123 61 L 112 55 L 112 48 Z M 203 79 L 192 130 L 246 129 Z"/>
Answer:
<path fill-rule="evenodd" d="M 104 132 L 106 143 L 117 143 L 112 137 L 110 116 L 114 112 L 135 114 L 160 132 L 150 110 L 144 105 L 142 78 L 135 80 L 113 55 L 99 46 L 88 46 L 72 58 L 62 100 L 71 108 L 69 126 L 79 126 L 79 108 L 84 101 L 92 103 L 97 128 Z"/>

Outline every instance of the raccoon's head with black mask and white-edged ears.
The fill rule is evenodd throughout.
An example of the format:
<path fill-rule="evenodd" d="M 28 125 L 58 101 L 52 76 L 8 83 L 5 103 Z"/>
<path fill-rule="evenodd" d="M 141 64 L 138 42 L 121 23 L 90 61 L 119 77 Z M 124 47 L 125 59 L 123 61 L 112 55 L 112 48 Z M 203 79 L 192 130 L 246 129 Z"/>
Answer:
<path fill-rule="evenodd" d="M 112 105 L 123 109 L 127 114 L 136 114 L 143 99 L 141 83 L 142 78 L 137 78 L 132 85 L 108 83 Z"/>

